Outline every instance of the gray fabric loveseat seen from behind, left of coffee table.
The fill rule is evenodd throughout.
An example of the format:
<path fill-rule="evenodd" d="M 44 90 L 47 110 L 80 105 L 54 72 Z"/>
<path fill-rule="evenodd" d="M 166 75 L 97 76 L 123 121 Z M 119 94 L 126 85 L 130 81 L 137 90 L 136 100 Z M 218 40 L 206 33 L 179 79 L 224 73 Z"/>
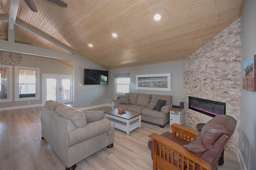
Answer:
<path fill-rule="evenodd" d="M 74 170 L 76 163 L 114 145 L 114 126 L 104 119 L 104 111 L 80 111 L 48 100 L 42 107 L 41 124 L 42 139 L 50 144 L 66 170 Z"/>

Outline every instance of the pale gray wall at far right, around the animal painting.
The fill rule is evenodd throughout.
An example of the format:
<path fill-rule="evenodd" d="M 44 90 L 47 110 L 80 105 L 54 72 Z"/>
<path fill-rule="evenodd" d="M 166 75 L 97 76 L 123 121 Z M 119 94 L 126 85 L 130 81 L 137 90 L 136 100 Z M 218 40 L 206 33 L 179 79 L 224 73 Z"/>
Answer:
<path fill-rule="evenodd" d="M 256 0 L 245 0 L 241 16 L 242 63 L 256 55 Z M 256 61 L 254 61 L 256 62 Z M 242 65 L 241 63 L 241 65 Z M 242 68 L 243 69 L 243 68 Z M 254 68 L 255 69 L 255 68 Z M 255 76 L 255 75 L 254 75 Z M 241 75 L 242 83 L 242 75 Z M 256 169 L 256 92 L 241 89 L 238 158 L 242 170 Z M 244 143 L 244 149 L 242 147 Z"/>

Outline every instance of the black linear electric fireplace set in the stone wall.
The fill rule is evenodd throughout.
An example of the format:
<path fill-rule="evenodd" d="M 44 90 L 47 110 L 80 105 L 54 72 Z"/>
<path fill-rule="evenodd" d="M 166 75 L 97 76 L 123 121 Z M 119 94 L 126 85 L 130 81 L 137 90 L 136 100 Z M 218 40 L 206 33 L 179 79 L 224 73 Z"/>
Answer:
<path fill-rule="evenodd" d="M 226 115 L 226 103 L 188 97 L 188 108 L 211 117 Z"/>

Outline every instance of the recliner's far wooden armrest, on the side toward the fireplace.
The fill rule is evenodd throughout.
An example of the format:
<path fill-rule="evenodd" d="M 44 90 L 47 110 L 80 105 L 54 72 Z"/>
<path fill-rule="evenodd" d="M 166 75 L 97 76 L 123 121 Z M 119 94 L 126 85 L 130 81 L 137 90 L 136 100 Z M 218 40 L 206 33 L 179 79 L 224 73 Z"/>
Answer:
<path fill-rule="evenodd" d="M 177 135 L 190 142 L 200 133 L 198 131 L 195 131 L 194 129 L 176 123 L 173 123 L 171 126 L 172 134 Z"/>

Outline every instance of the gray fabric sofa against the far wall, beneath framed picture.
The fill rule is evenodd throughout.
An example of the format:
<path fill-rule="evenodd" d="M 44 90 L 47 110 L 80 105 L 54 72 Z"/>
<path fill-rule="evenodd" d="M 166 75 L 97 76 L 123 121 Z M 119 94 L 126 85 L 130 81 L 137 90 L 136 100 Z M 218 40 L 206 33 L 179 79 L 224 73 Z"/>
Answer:
<path fill-rule="evenodd" d="M 156 123 L 160 127 L 169 121 L 170 108 L 172 108 L 172 96 L 170 95 L 155 95 L 142 93 L 126 93 L 129 96 L 129 104 L 120 104 L 120 100 L 116 100 L 114 108 L 121 108 L 127 111 L 141 113 L 141 119 L 151 123 Z M 160 111 L 150 108 L 153 100 L 166 100 L 165 106 L 161 107 Z"/>

